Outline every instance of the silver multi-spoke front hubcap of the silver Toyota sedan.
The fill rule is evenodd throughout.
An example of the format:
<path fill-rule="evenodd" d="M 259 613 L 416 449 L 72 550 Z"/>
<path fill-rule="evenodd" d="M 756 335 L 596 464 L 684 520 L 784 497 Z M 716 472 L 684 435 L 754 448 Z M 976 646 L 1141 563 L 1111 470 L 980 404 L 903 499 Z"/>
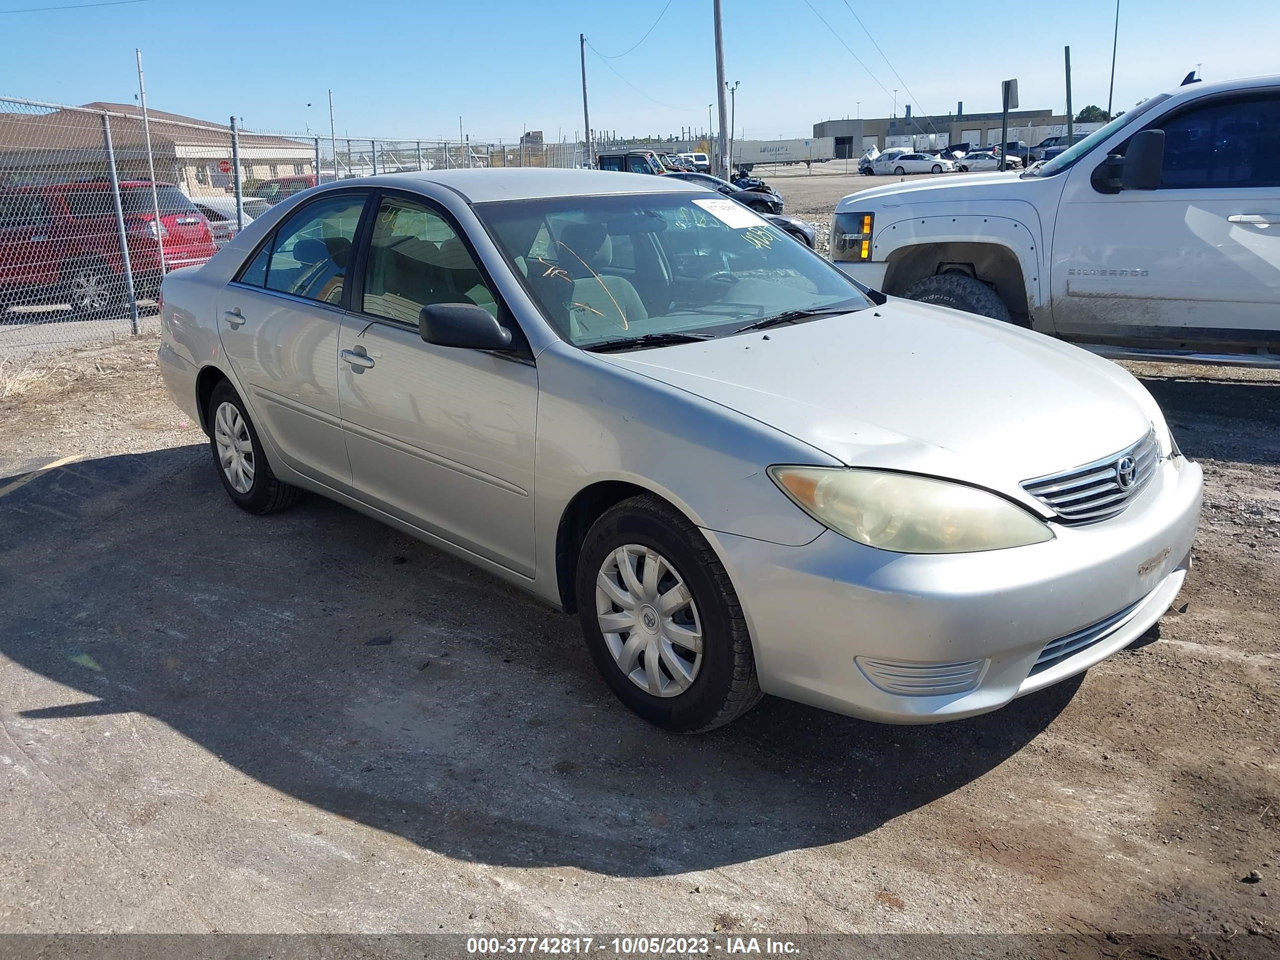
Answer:
<path fill-rule="evenodd" d="M 600 564 L 595 614 L 618 668 L 654 696 L 685 692 L 703 664 L 698 605 L 671 561 L 626 544 Z"/>

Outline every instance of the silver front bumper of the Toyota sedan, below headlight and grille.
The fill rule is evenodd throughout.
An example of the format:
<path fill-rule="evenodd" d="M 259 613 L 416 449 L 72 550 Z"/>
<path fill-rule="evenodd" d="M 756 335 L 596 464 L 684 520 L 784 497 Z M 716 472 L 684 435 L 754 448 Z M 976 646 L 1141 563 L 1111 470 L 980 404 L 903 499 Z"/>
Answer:
<path fill-rule="evenodd" d="M 707 535 L 742 602 L 762 690 L 867 719 L 932 723 L 995 710 L 1146 632 L 1190 564 L 1202 485 L 1197 463 L 1167 458 L 1119 516 L 987 553 L 888 553 L 829 530 L 805 547 Z M 929 694 L 934 678 L 899 692 L 877 673 L 883 663 L 899 677 L 964 675 L 972 687 Z"/>

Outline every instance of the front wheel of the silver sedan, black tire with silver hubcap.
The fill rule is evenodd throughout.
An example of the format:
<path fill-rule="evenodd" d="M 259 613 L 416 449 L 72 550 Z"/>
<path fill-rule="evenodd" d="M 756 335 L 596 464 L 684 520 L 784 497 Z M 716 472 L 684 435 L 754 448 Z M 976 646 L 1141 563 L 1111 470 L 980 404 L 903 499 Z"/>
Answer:
<path fill-rule="evenodd" d="M 650 558 L 658 558 L 652 567 L 657 571 L 652 590 L 641 586 L 634 596 L 635 590 L 625 586 L 620 554 L 631 564 L 637 586 L 646 580 Z M 598 586 L 605 580 L 612 584 L 608 591 Z M 678 593 L 681 586 L 684 593 Z M 575 589 L 582 636 L 595 668 L 614 695 L 650 723 L 677 733 L 700 733 L 736 719 L 763 696 L 751 637 L 728 573 L 698 527 L 662 498 L 632 497 L 595 521 L 579 554 Z M 630 626 L 627 608 L 612 600 L 620 593 L 637 611 Z M 659 614 L 660 599 L 673 595 L 687 599 L 671 613 Z M 654 605 L 646 605 L 653 598 L 658 598 Z M 617 618 L 620 628 L 605 636 L 602 616 Z M 682 626 L 700 631 L 700 653 L 667 639 L 680 637 Z M 637 645 L 628 672 L 623 663 L 632 639 Z M 650 652 L 657 680 L 650 678 Z M 676 668 L 672 662 L 678 662 Z"/>

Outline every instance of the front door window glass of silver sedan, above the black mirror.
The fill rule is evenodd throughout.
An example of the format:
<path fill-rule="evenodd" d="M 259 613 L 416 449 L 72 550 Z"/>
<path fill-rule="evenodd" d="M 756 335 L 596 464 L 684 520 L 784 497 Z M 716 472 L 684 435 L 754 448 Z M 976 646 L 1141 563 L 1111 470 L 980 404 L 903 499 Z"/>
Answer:
<path fill-rule="evenodd" d="M 439 214 L 384 197 L 369 241 L 364 311 L 416 324 L 428 303 L 474 303 L 498 315 L 498 301 L 462 238 Z"/>

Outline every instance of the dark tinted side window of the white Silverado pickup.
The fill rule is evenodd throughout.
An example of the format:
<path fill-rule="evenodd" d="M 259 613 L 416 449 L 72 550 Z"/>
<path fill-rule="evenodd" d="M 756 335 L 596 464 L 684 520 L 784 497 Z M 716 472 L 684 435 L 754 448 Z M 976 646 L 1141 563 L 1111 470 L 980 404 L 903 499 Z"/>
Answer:
<path fill-rule="evenodd" d="M 1280 96 L 1219 100 L 1160 128 L 1161 189 L 1280 187 Z"/>

